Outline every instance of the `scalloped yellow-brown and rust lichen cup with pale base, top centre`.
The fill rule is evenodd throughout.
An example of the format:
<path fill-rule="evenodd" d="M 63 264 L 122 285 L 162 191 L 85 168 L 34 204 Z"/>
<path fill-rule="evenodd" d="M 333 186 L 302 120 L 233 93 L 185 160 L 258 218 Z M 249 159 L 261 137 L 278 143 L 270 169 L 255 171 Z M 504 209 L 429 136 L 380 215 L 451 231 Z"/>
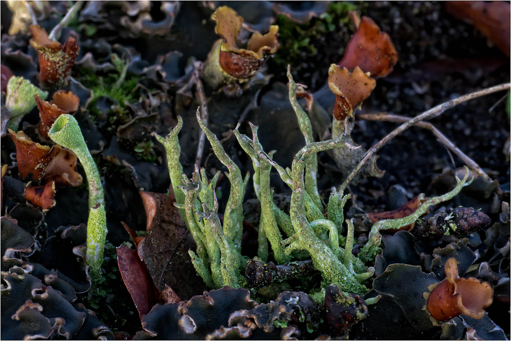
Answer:
<path fill-rule="evenodd" d="M 216 22 L 215 33 L 221 37 L 204 65 L 204 80 L 213 89 L 247 82 L 279 48 L 278 26 L 270 26 L 264 35 L 252 34 L 247 48 L 240 49 L 237 38 L 243 18 L 227 6 L 218 7 L 211 18 Z"/>

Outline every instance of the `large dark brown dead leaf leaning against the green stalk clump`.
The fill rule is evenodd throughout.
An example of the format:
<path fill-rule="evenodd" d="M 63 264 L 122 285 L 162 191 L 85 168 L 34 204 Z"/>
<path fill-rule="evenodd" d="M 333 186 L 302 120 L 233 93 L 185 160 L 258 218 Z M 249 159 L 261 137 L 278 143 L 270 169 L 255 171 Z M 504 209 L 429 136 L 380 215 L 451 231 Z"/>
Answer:
<path fill-rule="evenodd" d="M 206 290 L 188 255 L 188 249 L 195 251 L 195 242 L 173 200 L 160 193 L 140 195 L 147 215 L 147 236 L 138 251 L 154 284 L 160 290 L 168 285 L 184 300 Z"/>

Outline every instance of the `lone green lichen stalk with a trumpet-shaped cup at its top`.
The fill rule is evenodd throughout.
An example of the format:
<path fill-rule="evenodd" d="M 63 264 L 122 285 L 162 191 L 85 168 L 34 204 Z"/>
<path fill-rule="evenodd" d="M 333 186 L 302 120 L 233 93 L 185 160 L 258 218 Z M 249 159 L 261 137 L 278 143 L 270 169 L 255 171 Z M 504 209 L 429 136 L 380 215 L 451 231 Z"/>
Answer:
<path fill-rule="evenodd" d="M 104 194 L 98 168 L 88 151 L 78 122 L 73 116 L 68 114 L 59 116 L 50 129 L 49 136 L 55 143 L 71 149 L 78 156 L 87 176 L 89 214 L 85 261 L 89 265 L 92 281 L 97 282 L 101 279 L 101 264 L 107 233 Z"/>

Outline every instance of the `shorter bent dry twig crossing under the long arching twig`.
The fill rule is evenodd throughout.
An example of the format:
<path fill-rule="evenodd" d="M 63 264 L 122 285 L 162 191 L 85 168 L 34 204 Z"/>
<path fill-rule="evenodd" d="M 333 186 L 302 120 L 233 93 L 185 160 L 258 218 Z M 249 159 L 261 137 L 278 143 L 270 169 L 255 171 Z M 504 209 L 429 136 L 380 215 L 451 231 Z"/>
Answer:
<path fill-rule="evenodd" d="M 365 121 L 385 121 L 385 122 L 395 122 L 395 123 L 406 123 L 410 121 L 412 118 L 402 115 L 393 115 L 389 113 L 361 113 L 356 116 L 358 120 Z M 445 145 L 449 150 L 451 150 L 454 154 L 456 154 L 469 168 L 474 170 L 477 175 L 483 177 L 486 180 L 490 180 L 488 174 L 486 174 L 481 166 L 479 166 L 474 160 L 472 160 L 468 155 L 463 153 L 451 140 L 449 140 L 446 135 L 444 135 L 437 127 L 429 122 L 418 122 L 415 124 L 417 127 L 425 128 L 431 130 L 433 134 L 436 136 L 438 141 Z"/>

